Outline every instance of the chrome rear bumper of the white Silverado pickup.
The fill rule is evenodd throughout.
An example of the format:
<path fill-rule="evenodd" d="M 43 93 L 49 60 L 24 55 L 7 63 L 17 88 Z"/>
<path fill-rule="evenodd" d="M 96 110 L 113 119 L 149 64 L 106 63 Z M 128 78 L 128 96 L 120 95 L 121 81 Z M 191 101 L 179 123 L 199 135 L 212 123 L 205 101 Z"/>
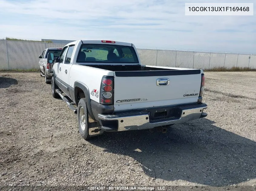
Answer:
<path fill-rule="evenodd" d="M 178 123 L 185 123 L 194 119 L 206 117 L 203 110 L 207 108 L 205 103 L 176 106 L 181 111 L 180 115 L 164 119 L 149 119 L 149 114 L 145 111 L 116 113 L 114 115 L 98 114 L 98 119 L 105 131 L 127 131 L 153 129 L 157 126 L 166 126 Z"/>

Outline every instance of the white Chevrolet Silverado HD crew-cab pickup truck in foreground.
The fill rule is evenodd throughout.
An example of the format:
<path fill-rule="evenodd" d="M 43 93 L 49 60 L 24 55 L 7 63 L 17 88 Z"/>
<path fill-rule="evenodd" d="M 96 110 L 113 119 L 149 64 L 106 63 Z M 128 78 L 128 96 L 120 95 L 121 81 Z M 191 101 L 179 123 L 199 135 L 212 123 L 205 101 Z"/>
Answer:
<path fill-rule="evenodd" d="M 51 53 L 47 58 L 53 63 Z M 52 95 L 77 113 L 84 139 L 105 131 L 166 132 L 168 126 L 207 116 L 202 70 L 141 65 L 132 43 L 71 42 L 52 71 Z"/>

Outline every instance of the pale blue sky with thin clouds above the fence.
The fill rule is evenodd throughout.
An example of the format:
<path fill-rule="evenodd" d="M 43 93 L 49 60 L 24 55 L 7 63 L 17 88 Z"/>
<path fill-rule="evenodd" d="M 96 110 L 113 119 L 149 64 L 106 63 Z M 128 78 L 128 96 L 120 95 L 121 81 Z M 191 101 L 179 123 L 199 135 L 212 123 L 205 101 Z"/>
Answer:
<path fill-rule="evenodd" d="M 185 16 L 185 3 L 200 2 L 223 1 L 0 0 L 0 38 L 116 40 L 137 48 L 256 54 L 256 3 L 254 16 Z"/>

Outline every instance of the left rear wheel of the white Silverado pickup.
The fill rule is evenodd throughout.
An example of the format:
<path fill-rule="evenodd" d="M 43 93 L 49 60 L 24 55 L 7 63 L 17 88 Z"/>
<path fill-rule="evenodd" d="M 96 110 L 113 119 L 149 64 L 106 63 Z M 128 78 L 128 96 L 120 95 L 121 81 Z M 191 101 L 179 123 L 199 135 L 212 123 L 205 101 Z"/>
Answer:
<path fill-rule="evenodd" d="M 88 129 L 89 119 L 85 98 L 81 98 L 79 100 L 77 107 L 77 120 L 78 129 L 81 137 L 84 138 L 85 140 L 90 139 L 91 137 L 89 135 Z"/>

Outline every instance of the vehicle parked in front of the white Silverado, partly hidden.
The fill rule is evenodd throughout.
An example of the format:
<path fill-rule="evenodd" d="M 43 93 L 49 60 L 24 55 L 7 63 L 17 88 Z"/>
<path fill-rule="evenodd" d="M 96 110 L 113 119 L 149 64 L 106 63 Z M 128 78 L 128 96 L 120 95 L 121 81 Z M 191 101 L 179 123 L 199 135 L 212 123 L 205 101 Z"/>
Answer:
<path fill-rule="evenodd" d="M 51 64 L 47 62 L 48 53 L 53 53 L 54 59 L 60 56 L 62 48 L 47 48 L 43 51 L 42 55 L 39 56 L 39 70 L 40 75 L 45 77 L 45 83 L 50 84 L 52 80 L 52 68 Z"/>

